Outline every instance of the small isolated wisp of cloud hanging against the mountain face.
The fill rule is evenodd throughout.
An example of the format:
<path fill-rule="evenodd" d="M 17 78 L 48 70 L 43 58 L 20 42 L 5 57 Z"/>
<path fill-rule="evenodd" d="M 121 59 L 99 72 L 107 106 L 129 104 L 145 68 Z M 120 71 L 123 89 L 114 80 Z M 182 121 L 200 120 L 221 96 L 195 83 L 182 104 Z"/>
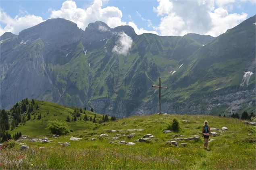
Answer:
<path fill-rule="evenodd" d="M 132 43 L 133 39 L 131 39 L 131 37 L 129 37 L 126 33 L 119 33 L 119 39 L 117 44 L 113 47 L 112 52 L 127 56 Z"/>

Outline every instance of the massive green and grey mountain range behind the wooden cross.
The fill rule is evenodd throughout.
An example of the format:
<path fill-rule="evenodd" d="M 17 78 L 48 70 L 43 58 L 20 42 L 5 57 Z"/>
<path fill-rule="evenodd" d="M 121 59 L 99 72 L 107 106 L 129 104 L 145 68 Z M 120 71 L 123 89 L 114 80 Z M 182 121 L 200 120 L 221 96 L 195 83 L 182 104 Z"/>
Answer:
<path fill-rule="evenodd" d="M 101 21 L 85 31 L 49 19 L 0 37 L 1 108 L 29 99 L 91 107 L 117 117 L 158 112 L 255 113 L 255 23 L 250 17 L 219 37 L 137 35 Z"/>

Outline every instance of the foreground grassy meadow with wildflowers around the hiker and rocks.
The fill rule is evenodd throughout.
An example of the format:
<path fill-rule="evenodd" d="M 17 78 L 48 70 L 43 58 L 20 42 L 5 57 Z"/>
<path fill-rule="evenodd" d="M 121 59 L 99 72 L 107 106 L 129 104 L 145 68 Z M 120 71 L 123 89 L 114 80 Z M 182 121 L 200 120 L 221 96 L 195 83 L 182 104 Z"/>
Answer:
<path fill-rule="evenodd" d="M 44 106 L 44 104 L 43 104 Z M 53 105 L 52 108 L 54 108 Z M 64 108 L 64 106 L 63 106 Z M 43 109 L 43 108 L 41 108 Z M 69 110 L 69 108 L 66 108 Z M 68 112 L 68 111 L 67 111 Z M 62 111 L 63 119 L 67 112 Z M 88 112 L 89 114 L 89 112 Z M 59 116 L 61 117 L 61 116 Z M 52 117 L 54 118 L 54 117 Z M 176 118 L 179 122 L 178 132 L 163 133 L 163 130 Z M 50 116 L 49 116 L 50 119 Z M 189 120 L 184 122 L 183 120 Z M 227 131 L 216 132 L 214 141 L 209 142 L 208 150 L 204 149 L 203 138 L 200 135 L 204 120 L 208 120 L 211 128 Z M 31 121 L 32 122 L 32 121 Z M 79 124 L 77 121 L 75 124 Z M 90 123 L 90 122 L 88 122 Z M 29 127 L 29 123 L 26 122 Z M 41 126 L 38 121 L 37 126 Z M 25 125 L 24 125 L 25 127 Z M 61 137 L 46 135 L 46 131 L 38 127 L 37 133 L 27 130 L 23 135 L 35 134 L 38 138 L 48 137 L 50 143 L 30 142 L 19 139 L 12 149 L 2 149 L 2 169 L 256 169 L 255 160 L 255 126 L 248 126 L 242 120 L 206 115 L 157 115 L 132 116 L 114 122 L 94 123 L 78 126 L 77 131 Z M 17 127 L 20 131 L 23 126 Z M 74 125 L 71 129 L 74 129 Z M 44 129 L 44 128 L 41 128 Z M 127 131 L 128 129 L 143 129 L 142 131 Z M 116 132 L 111 132 L 116 130 Z M 108 136 L 99 137 L 101 134 Z M 117 135 L 119 134 L 119 135 Z M 130 139 L 127 135 L 133 134 Z M 146 134 L 154 135 L 148 143 L 138 142 Z M 125 136 L 124 136 L 125 135 Z M 178 141 L 180 138 L 199 135 L 198 141 Z M 79 141 L 70 141 L 70 137 L 79 137 Z M 40 137 L 40 138 L 41 138 Z M 113 137 L 118 137 L 114 138 Z M 91 140 L 95 138 L 95 140 Z M 117 143 L 110 143 L 110 141 Z M 133 142 L 135 145 L 125 145 L 119 141 Z M 167 141 L 177 141 L 178 146 L 167 144 Z M 71 145 L 63 146 L 62 143 Z M 184 147 L 181 143 L 187 143 Z M 21 145 L 29 149 L 20 150 Z M 43 148 L 40 148 L 43 147 Z"/>

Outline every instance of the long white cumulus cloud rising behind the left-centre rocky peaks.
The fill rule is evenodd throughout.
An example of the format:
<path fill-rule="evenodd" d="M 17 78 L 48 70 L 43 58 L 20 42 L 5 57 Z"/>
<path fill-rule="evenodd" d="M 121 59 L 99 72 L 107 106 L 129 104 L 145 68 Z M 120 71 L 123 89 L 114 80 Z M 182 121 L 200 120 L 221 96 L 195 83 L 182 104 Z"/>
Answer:
<path fill-rule="evenodd" d="M 107 1 L 105 1 L 106 3 Z M 50 17 L 51 18 L 64 18 L 70 21 L 73 21 L 77 24 L 77 26 L 81 29 L 85 29 L 89 23 L 93 23 L 95 21 L 103 21 L 109 27 L 114 28 L 120 25 L 133 25 L 134 31 L 137 34 L 142 34 L 147 31 L 145 29 L 138 29 L 135 23 L 126 23 L 122 21 L 123 13 L 122 11 L 114 6 L 107 6 L 102 8 L 102 0 L 94 0 L 93 4 L 89 7 L 82 9 L 77 8 L 77 5 L 72 0 L 67 0 L 62 3 L 62 7 L 60 10 L 52 10 L 50 9 Z M 136 27 L 136 28 L 135 28 Z M 156 33 L 156 31 L 154 31 Z"/>

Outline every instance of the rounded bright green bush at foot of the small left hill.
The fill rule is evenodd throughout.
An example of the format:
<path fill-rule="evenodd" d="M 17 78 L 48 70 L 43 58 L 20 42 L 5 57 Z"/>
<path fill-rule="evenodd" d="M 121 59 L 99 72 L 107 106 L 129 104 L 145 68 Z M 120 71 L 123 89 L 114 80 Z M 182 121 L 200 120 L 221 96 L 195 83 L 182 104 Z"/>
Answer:
<path fill-rule="evenodd" d="M 53 134 L 56 135 L 65 135 L 69 133 L 69 126 L 65 122 L 58 120 L 49 121 L 46 129 L 49 129 Z"/>

